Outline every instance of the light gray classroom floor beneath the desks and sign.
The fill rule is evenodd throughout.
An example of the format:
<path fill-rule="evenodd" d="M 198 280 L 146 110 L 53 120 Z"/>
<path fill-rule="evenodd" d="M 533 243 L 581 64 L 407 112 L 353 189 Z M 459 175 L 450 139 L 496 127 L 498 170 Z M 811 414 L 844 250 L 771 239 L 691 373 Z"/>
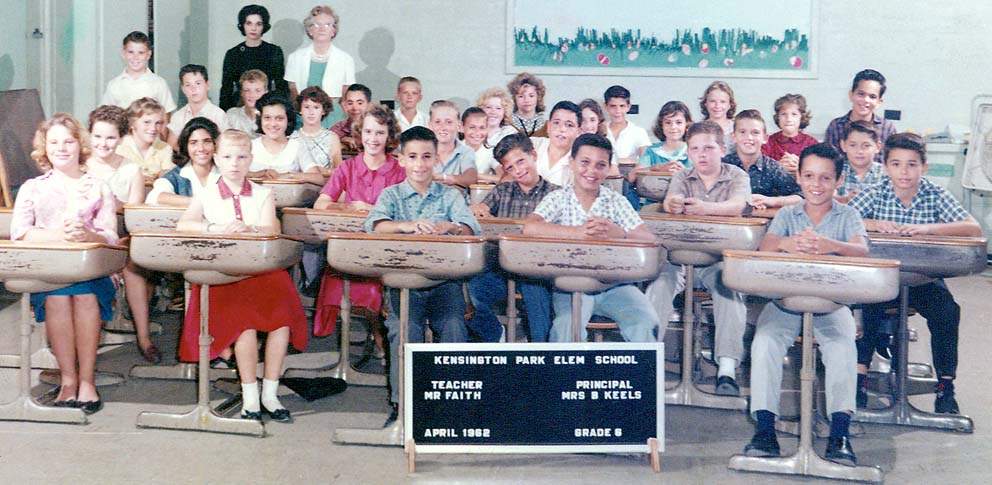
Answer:
<path fill-rule="evenodd" d="M 988 483 L 992 465 L 992 392 L 989 352 L 992 279 L 952 280 L 962 306 L 958 401 L 975 420 L 972 435 L 867 425 L 853 445 L 862 464 L 882 467 L 887 483 Z M 8 300 L 9 301 L 9 300 Z M 166 328 L 175 332 L 177 318 Z M 920 341 L 911 360 L 929 360 L 929 334 L 914 318 Z M 174 340 L 175 337 L 172 337 Z M 163 343 L 167 336 L 157 337 Z M 175 345 L 172 343 L 172 345 Z M 313 341 L 320 350 L 329 339 Z M 356 347 L 357 349 L 357 347 Z M 166 349 L 163 349 L 166 350 Z M 173 349 L 167 350 L 170 354 Z M 170 354 L 171 355 L 171 354 Z M 131 346 L 101 355 L 101 367 L 125 370 L 139 363 Z M 372 362 L 369 365 L 378 365 Z M 3 372 L 11 372 L 4 370 Z M 39 386 L 40 392 L 45 386 Z M 6 390 L 5 390 L 6 391 Z M 207 433 L 143 430 L 134 426 L 143 410 L 181 411 L 195 402 L 192 382 L 130 380 L 101 391 L 104 410 L 86 426 L 0 422 L 0 483 L 808 483 L 815 480 L 727 469 L 752 433 L 740 412 L 669 407 L 662 474 L 651 473 L 634 455 L 421 455 L 417 473 L 406 473 L 399 448 L 340 446 L 337 427 L 381 425 L 385 391 L 351 387 L 308 403 L 282 397 L 295 423 L 267 425 L 263 439 Z M 4 395 L 9 395 L 4 392 Z M 219 402 L 221 393 L 213 396 Z M 932 410 L 932 396 L 914 403 Z M 797 439 L 779 436 L 783 451 Z M 816 440 L 822 452 L 824 440 Z M 982 478 L 982 477 L 986 478 Z"/>

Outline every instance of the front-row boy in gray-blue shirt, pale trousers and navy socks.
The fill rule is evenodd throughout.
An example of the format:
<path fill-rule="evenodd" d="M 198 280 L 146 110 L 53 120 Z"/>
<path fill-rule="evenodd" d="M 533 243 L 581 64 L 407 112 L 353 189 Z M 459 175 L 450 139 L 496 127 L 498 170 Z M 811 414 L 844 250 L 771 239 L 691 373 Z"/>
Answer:
<path fill-rule="evenodd" d="M 805 148 L 799 160 L 799 185 L 805 199 L 784 207 L 772 219 L 761 241 L 762 251 L 796 254 L 868 254 L 865 225 L 858 211 L 833 200 L 840 186 L 844 160 L 826 143 Z M 854 412 L 854 316 L 842 306 L 813 316 L 813 335 L 827 369 L 827 412 L 830 439 L 826 458 L 849 466 L 857 461 L 848 427 Z M 779 456 L 775 418 L 779 414 L 782 359 L 802 331 L 802 315 L 782 309 L 777 301 L 765 305 L 751 343 L 751 415 L 757 425 L 744 448 L 748 456 Z"/>

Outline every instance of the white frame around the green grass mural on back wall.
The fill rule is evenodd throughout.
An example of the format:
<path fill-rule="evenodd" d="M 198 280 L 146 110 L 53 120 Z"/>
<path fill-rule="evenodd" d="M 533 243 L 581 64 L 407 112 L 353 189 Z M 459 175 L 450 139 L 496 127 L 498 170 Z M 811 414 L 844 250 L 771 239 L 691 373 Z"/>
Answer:
<path fill-rule="evenodd" d="M 601 64 L 600 66 L 595 66 L 595 65 L 590 65 L 588 67 L 582 67 L 582 66 L 564 66 L 564 65 L 559 66 L 559 65 L 554 65 L 554 63 L 555 62 L 561 62 L 560 59 L 562 58 L 562 56 L 563 55 L 568 55 L 568 52 L 569 51 L 563 49 L 562 50 L 562 53 L 553 53 L 553 54 L 551 54 L 552 52 L 554 52 L 554 50 L 553 50 L 553 47 L 554 46 L 551 43 L 549 43 L 548 44 L 548 47 L 546 47 L 546 48 L 550 49 L 550 50 L 548 50 L 547 53 L 548 54 L 551 54 L 550 56 L 548 56 L 548 58 L 549 59 L 552 59 L 552 62 L 544 61 L 545 63 L 542 63 L 542 64 L 532 64 L 532 63 L 530 63 L 530 64 L 527 64 L 527 63 L 518 64 L 517 63 L 517 55 L 518 55 L 518 52 L 517 52 L 517 38 L 516 38 L 517 33 L 518 33 L 517 29 L 518 28 L 527 29 L 527 28 L 530 28 L 531 26 L 530 25 L 527 25 L 527 26 L 523 26 L 523 25 L 518 26 L 518 25 L 516 25 L 517 7 L 518 6 L 524 6 L 524 5 L 530 4 L 532 2 L 540 2 L 541 4 L 544 4 L 544 5 L 546 5 L 548 3 L 552 3 L 552 4 L 557 3 L 557 4 L 560 4 L 560 6 L 561 6 L 560 8 L 568 8 L 567 5 L 570 4 L 570 3 L 573 3 L 573 2 L 566 1 L 566 0 L 506 0 L 506 72 L 509 73 L 509 74 L 516 74 L 516 73 L 521 73 L 521 72 L 530 72 L 530 73 L 534 73 L 534 74 L 583 75 L 583 76 L 653 76 L 653 77 L 704 77 L 704 78 L 816 79 L 818 77 L 818 71 L 817 71 L 817 69 L 818 69 L 818 65 L 819 65 L 819 59 L 818 58 L 819 58 L 819 30 L 820 30 L 820 28 L 819 28 L 820 27 L 819 26 L 820 0 L 808 0 L 808 1 L 809 1 L 809 12 L 808 12 L 808 14 L 809 14 L 809 16 L 808 16 L 809 33 L 808 34 L 802 34 L 800 32 L 799 35 L 802 38 L 802 43 L 798 43 L 795 40 L 792 43 L 792 47 L 796 47 L 797 44 L 798 44 L 800 47 L 805 47 L 806 50 L 804 52 L 796 52 L 797 54 L 804 54 L 804 55 L 797 55 L 797 56 L 792 56 L 792 57 L 789 57 L 788 58 L 788 62 L 789 63 L 792 63 L 793 65 L 796 62 L 799 62 L 801 64 L 801 68 L 796 68 L 796 69 L 788 69 L 788 68 L 767 69 L 767 68 L 746 68 L 746 67 L 740 67 L 740 66 L 738 66 L 738 67 L 730 67 L 730 68 L 727 68 L 727 67 L 709 67 L 708 65 L 706 67 L 700 67 L 698 65 L 697 66 L 686 66 L 686 67 L 632 67 L 632 66 L 617 66 L 616 63 L 613 63 L 614 66 L 609 66 L 609 64 L 610 64 L 610 58 L 609 58 L 608 55 L 611 54 L 611 53 L 612 54 L 617 54 L 617 53 L 623 54 L 623 53 L 627 52 L 622 47 L 619 48 L 619 49 L 617 49 L 616 47 L 613 47 L 613 48 L 599 48 L 599 47 L 596 47 L 596 48 L 589 48 L 589 49 L 587 49 L 587 50 L 590 50 L 590 51 L 591 50 L 603 50 L 604 51 L 603 54 L 598 55 L 598 60 L 599 60 L 599 62 Z M 756 9 L 758 11 L 767 12 L 767 11 L 769 11 L 768 10 L 768 7 L 767 6 L 766 7 L 762 7 L 761 6 L 761 4 L 763 4 L 765 2 L 768 2 L 768 3 L 773 3 L 774 2 L 776 4 L 780 4 L 781 3 L 781 1 L 779 1 L 779 0 L 752 0 L 752 2 L 749 2 L 749 5 L 751 5 L 751 8 L 752 9 Z M 802 12 L 800 12 L 800 13 L 802 13 Z M 807 22 L 806 20 L 803 20 L 800 24 L 805 24 L 806 22 Z M 650 21 L 647 21 L 646 23 L 650 23 Z M 576 29 L 577 28 L 578 28 L 578 26 L 576 26 Z M 595 31 L 593 31 L 593 32 L 595 32 Z M 629 32 L 630 31 L 628 31 L 628 33 Z M 738 32 L 741 32 L 741 31 L 738 31 Z M 639 31 L 638 31 L 638 33 L 639 33 Z M 698 33 L 696 35 L 698 36 Z M 604 34 L 604 36 L 605 36 L 605 34 Z M 661 36 L 661 34 L 659 34 L 659 37 L 660 36 Z M 547 38 L 546 32 L 545 32 L 545 38 Z M 576 39 L 573 39 L 573 41 L 574 40 L 576 40 Z M 575 45 L 575 43 L 572 43 L 571 45 Z M 784 44 L 779 44 L 779 45 L 784 45 Z M 568 46 L 562 46 L 562 47 L 567 48 Z M 685 46 L 683 46 L 683 48 L 685 48 Z M 786 48 L 788 48 L 788 47 L 786 47 Z M 783 48 L 782 51 L 779 54 L 775 54 L 775 55 L 785 55 L 786 54 L 786 51 L 785 51 L 786 48 Z M 723 57 L 722 54 L 717 54 L 716 52 L 712 52 L 712 55 L 703 55 L 702 53 L 703 52 L 707 52 L 707 51 L 704 51 L 703 49 L 699 49 L 699 50 L 700 50 L 700 54 L 697 54 L 697 56 L 699 56 L 699 57 L 706 57 L 707 58 L 707 61 L 709 61 L 710 59 L 714 59 L 714 58 L 716 58 L 718 56 L 719 57 Z M 750 52 L 752 52 L 754 50 L 755 49 L 750 49 L 747 52 L 745 52 L 745 54 L 748 54 L 748 53 L 750 53 Z M 691 52 L 691 49 L 690 49 L 690 52 Z M 773 51 L 773 50 L 770 50 L 769 49 L 769 52 L 770 53 L 775 53 L 777 51 Z M 637 53 L 634 52 L 633 54 L 636 56 Z M 678 56 L 678 53 L 677 52 L 674 53 L 674 54 L 676 55 L 676 57 Z M 689 54 L 689 52 L 686 52 L 686 54 Z M 709 54 L 709 53 L 707 52 L 707 54 Z M 628 56 L 629 55 L 630 54 L 628 54 Z M 762 56 L 765 56 L 766 53 L 765 52 L 761 52 L 761 55 Z M 769 54 L 769 55 L 772 55 L 772 54 Z M 671 54 L 670 54 L 670 56 L 671 56 Z M 723 62 L 724 63 L 733 62 L 733 59 L 731 59 L 730 61 L 727 61 L 727 58 L 729 58 L 729 57 L 733 57 L 733 56 L 724 57 L 724 61 Z M 762 57 L 762 58 L 764 58 L 764 57 Z M 799 58 L 799 60 L 798 61 L 795 61 L 796 58 Z M 669 62 L 672 62 L 670 59 L 671 59 L 671 57 L 669 57 Z M 603 65 L 604 64 L 604 62 L 603 62 L 604 60 L 605 60 L 605 65 Z M 636 60 L 636 57 L 634 59 L 631 59 L 631 61 L 634 61 L 634 60 Z M 714 59 L 714 60 L 716 60 L 716 59 Z M 623 62 L 624 64 L 629 64 L 623 57 L 621 57 L 621 62 Z M 714 62 L 714 65 L 719 65 L 719 64 L 717 64 L 716 62 Z"/>

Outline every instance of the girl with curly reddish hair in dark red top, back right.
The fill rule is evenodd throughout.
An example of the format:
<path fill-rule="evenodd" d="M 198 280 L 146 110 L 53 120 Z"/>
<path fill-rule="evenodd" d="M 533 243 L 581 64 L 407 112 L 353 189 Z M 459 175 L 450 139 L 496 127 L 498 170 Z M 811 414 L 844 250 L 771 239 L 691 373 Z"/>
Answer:
<path fill-rule="evenodd" d="M 761 153 L 777 160 L 786 170 L 798 171 L 799 154 L 803 149 L 816 145 L 816 138 L 803 133 L 813 115 L 806 107 L 801 94 L 786 94 L 775 100 L 775 125 L 779 131 L 768 137 Z"/>

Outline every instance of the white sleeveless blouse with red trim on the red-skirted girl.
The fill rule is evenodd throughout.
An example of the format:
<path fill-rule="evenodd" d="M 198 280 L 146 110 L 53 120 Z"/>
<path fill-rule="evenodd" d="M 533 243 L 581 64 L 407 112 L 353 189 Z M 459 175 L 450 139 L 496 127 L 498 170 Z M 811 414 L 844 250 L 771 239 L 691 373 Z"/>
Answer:
<path fill-rule="evenodd" d="M 236 196 L 221 178 L 216 183 L 208 184 L 196 197 L 203 202 L 203 218 L 210 224 L 228 224 L 235 220 L 249 226 L 257 226 L 262 222 L 262 208 L 266 200 L 272 205 L 272 189 L 245 180 L 245 186 Z M 223 187 L 223 188 L 222 188 Z M 227 194 L 228 197 L 224 197 Z"/>

